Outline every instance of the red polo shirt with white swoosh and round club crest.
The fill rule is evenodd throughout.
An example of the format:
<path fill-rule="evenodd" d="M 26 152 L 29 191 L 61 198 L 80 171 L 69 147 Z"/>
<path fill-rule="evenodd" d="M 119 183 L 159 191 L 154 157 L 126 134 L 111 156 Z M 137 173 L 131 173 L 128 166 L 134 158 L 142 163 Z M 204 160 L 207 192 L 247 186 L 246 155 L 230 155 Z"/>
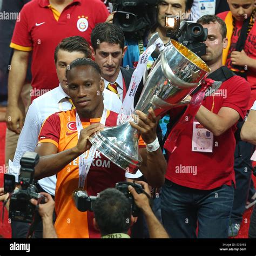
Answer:
<path fill-rule="evenodd" d="M 24 5 L 10 47 L 33 51 L 32 100 L 59 84 L 53 59 L 58 43 L 70 36 L 82 36 L 91 43 L 92 29 L 105 22 L 108 15 L 99 0 L 74 0 L 61 14 L 49 7 L 49 0 L 34 0 Z"/>

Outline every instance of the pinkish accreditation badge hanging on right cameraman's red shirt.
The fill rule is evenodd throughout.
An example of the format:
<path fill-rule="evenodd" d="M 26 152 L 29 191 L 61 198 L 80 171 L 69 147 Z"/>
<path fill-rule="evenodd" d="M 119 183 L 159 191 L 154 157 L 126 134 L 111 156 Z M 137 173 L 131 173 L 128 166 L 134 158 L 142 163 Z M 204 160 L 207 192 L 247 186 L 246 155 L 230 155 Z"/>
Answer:
<path fill-rule="evenodd" d="M 192 151 L 212 152 L 213 133 L 199 122 L 193 122 Z"/>

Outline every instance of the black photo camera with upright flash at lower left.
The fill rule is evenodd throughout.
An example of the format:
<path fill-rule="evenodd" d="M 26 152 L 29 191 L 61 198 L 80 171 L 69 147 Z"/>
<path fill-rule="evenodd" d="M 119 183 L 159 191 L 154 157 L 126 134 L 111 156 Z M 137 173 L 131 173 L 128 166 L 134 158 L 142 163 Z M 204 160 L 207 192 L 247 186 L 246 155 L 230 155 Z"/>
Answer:
<path fill-rule="evenodd" d="M 4 191 L 12 193 L 9 206 L 9 218 L 11 220 L 31 223 L 35 215 L 36 206 L 30 203 L 30 199 L 39 199 L 44 203 L 44 197 L 38 193 L 35 186 L 34 172 L 39 161 L 39 155 L 35 152 L 25 152 L 21 158 L 21 174 L 19 185 L 21 188 L 15 190 L 15 176 L 4 174 Z"/>

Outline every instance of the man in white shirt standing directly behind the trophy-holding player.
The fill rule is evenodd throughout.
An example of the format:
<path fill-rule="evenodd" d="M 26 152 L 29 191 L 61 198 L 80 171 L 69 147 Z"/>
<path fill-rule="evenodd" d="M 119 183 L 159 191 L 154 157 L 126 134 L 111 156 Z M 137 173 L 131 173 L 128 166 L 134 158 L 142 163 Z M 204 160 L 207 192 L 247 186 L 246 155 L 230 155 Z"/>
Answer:
<path fill-rule="evenodd" d="M 77 58 L 91 58 L 91 50 L 89 44 L 83 37 L 73 36 L 63 39 L 55 50 L 55 64 L 59 86 L 55 89 L 46 92 L 44 95 L 33 100 L 28 113 L 26 114 L 25 123 L 18 139 L 17 149 L 15 152 L 14 162 L 9 160 L 9 172 L 16 176 L 18 182 L 19 161 L 26 151 L 34 151 L 38 142 L 38 135 L 41 126 L 46 118 L 51 114 L 59 111 L 66 111 L 72 108 L 72 102 L 68 95 L 68 84 L 66 81 L 66 67 Z M 104 105 L 107 109 L 119 112 L 122 105 L 116 94 L 109 90 L 104 90 Z M 38 181 L 42 191 L 55 196 L 56 176 L 47 177 Z M 24 234 L 14 234 L 12 228 L 12 237 L 23 237 L 27 230 L 24 229 Z"/>

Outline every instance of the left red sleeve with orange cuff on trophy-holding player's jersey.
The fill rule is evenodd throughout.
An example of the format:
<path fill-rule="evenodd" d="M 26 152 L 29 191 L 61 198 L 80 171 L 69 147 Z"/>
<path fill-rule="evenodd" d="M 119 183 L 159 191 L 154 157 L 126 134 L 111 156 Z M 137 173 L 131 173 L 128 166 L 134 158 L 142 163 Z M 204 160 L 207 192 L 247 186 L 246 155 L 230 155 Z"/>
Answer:
<path fill-rule="evenodd" d="M 60 136 L 59 113 L 54 113 L 44 121 L 38 136 L 38 144 L 49 142 L 54 144 L 56 147 L 58 147 L 59 136 Z"/>

